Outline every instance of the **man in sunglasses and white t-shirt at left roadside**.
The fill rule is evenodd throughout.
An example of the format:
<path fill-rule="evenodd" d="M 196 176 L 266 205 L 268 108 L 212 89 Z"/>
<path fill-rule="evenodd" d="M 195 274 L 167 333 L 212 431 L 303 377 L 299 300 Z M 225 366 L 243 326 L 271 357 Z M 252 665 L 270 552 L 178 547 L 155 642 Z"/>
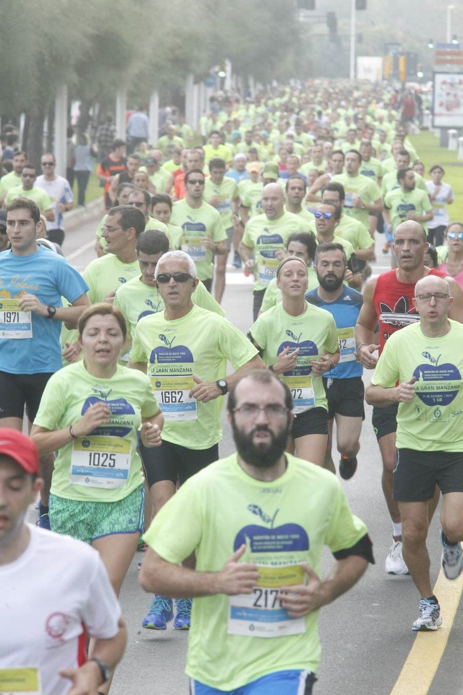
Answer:
<path fill-rule="evenodd" d="M 35 186 L 42 188 L 51 200 L 51 207 L 55 219 L 51 222 L 47 220 L 47 238 L 62 246 L 65 238 L 65 224 L 63 213 L 72 210 L 74 206 L 74 195 L 71 186 L 65 177 L 55 174 L 55 156 L 51 152 L 42 154 L 40 160 L 42 174 L 37 177 Z"/>

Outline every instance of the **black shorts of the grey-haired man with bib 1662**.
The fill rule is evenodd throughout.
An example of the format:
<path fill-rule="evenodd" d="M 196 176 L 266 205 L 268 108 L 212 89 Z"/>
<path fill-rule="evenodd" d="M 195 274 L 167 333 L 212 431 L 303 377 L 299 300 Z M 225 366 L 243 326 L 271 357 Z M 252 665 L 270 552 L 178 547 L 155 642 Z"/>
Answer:
<path fill-rule="evenodd" d="M 140 456 L 148 486 L 162 480 L 171 480 L 180 485 L 201 471 L 205 466 L 219 459 L 219 445 L 209 449 L 187 449 L 185 446 L 162 441 L 160 446 L 146 448 L 140 442 Z"/>

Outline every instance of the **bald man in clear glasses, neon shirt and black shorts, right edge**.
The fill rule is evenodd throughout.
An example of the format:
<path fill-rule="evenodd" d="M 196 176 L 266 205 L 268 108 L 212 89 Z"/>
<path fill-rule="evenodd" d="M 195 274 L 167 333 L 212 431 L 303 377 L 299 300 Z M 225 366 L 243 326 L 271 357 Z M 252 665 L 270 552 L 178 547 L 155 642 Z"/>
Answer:
<path fill-rule="evenodd" d="M 416 282 L 419 322 L 394 333 L 381 353 L 367 402 L 398 404 L 393 498 L 402 520 L 403 559 L 421 596 L 413 630 L 437 630 L 440 607 L 430 584 L 426 549 L 429 505 L 437 486 L 441 509 L 441 568 L 455 580 L 463 569 L 463 326 L 448 318 L 446 279 Z"/>

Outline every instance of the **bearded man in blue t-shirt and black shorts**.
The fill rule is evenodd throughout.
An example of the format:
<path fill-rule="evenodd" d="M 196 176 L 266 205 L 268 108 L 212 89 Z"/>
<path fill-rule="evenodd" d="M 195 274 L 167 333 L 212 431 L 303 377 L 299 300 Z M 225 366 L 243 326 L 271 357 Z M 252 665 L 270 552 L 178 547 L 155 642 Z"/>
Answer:
<path fill-rule="evenodd" d="M 315 272 L 319 287 L 308 292 L 309 304 L 326 309 L 335 319 L 341 357 L 334 369 L 323 375 L 328 400 L 328 445 L 325 468 L 335 473 L 331 457 L 332 424 L 336 420 L 339 475 L 348 480 L 357 470 L 360 432 L 364 420 L 364 386 L 362 365 L 355 359 L 355 323 L 363 297 L 360 292 L 344 285 L 346 253 L 341 244 L 320 244 L 315 252 Z"/>

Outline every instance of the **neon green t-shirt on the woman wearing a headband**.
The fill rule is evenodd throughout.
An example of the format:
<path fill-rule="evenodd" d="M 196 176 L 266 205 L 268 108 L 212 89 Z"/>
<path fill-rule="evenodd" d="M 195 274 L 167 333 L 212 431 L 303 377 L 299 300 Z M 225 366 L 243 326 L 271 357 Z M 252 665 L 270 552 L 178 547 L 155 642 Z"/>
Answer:
<path fill-rule="evenodd" d="M 278 355 L 288 345 L 290 352 L 299 348 L 294 370 L 280 375 L 291 389 L 294 414 L 315 407 L 328 409 L 322 378 L 312 376 L 310 363 L 325 352 L 336 352 L 339 348 L 335 320 L 329 311 L 305 302 L 304 313 L 291 316 L 280 302 L 259 316 L 250 334 L 263 350 L 262 359 L 269 366 L 276 363 Z"/>

